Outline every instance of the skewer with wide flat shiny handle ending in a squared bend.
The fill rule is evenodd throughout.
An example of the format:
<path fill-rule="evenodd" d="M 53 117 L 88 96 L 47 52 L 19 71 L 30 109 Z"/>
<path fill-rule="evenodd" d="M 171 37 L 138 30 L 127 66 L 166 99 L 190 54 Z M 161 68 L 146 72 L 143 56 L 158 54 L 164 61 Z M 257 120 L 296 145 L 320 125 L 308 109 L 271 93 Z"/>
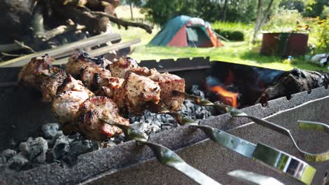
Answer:
<path fill-rule="evenodd" d="M 291 156 L 288 153 L 274 149 L 266 144 L 253 144 L 245 139 L 231 135 L 223 130 L 212 128 L 207 125 L 190 125 L 192 128 L 200 128 L 212 141 L 236 151 L 247 158 L 252 158 L 272 169 L 283 172 L 288 176 L 301 181 L 304 184 L 311 184 L 316 169 L 304 161 Z"/>

